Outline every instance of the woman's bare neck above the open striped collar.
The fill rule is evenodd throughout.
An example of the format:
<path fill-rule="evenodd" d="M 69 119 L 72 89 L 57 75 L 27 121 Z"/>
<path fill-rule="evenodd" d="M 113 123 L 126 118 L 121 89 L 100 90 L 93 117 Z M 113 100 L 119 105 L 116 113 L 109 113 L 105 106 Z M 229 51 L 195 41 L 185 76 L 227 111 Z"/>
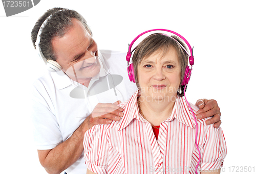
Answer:
<path fill-rule="evenodd" d="M 175 101 L 146 101 L 138 98 L 141 115 L 154 126 L 159 126 L 173 111 Z"/>

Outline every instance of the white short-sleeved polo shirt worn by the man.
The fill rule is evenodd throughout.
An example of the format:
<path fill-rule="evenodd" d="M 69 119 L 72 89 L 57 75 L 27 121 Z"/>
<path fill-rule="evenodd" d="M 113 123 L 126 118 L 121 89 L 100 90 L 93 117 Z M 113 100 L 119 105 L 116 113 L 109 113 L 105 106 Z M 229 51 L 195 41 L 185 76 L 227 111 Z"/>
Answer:
<path fill-rule="evenodd" d="M 98 103 L 126 101 L 137 90 L 127 75 L 125 53 L 99 51 L 100 73 L 88 88 L 63 71 L 47 72 L 32 89 L 32 120 L 37 150 L 50 150 L 66 141 Z M 83 154 L 66 172 L 86 173 Z"/>

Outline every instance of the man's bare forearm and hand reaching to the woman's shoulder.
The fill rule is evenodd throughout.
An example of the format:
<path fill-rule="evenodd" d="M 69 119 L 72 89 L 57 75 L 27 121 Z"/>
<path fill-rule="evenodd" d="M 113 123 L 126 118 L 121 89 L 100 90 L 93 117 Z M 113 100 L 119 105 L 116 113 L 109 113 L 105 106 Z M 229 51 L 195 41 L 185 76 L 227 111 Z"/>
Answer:
<path fill-rule="evenodd" d="M 94 125 L 109 124 L 119 120 L 123 109 L 117 104 L 98 104 L 72 136 L 52 150 L 38 150 L 41 165 L 48 173 L 60 173 L 76 162 L 83 152 L 83 135 Z"/>

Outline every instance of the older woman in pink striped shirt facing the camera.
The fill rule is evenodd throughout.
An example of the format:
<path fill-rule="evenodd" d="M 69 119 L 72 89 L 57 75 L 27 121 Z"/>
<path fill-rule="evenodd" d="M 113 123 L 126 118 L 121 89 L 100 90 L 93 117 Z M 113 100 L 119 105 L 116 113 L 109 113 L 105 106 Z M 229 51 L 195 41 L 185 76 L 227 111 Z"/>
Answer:
<path fill-rule="evenodd" d="M 139 90 L 120 104 L 121 120 L 84 135 L 88 173 L 196 173 L 198 167 L 197 172 L 220 173 L 226 155 L 222 129 L 207 126 L 207 118 L 197 120 L 196 135 L 198 108 L 189 108 L 181 85 L 188 62 L 181 45 L 176 36 L 153 34 L 137 46 L 133 65 Z"/>

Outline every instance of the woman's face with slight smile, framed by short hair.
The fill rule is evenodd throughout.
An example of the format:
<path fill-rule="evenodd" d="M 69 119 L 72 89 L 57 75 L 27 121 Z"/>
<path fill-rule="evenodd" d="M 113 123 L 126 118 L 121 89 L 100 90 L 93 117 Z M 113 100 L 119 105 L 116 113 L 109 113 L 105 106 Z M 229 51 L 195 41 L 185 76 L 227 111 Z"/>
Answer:
<path fill-rule="evenodd" d="M 181 78 L 179 58 L 173 47 L 164 56 L 162 55 L 162 51 L 156 51 L 138 65 L 142 101 L 175 102 L 176 100 Z"/>

